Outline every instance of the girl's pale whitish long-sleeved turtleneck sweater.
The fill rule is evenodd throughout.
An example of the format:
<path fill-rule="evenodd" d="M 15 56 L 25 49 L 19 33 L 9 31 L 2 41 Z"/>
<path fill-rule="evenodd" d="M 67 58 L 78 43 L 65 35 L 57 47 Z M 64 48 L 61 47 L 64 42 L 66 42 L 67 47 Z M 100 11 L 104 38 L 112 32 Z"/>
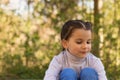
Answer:
<path fill-rule="evenodd" d="M 68 51 L 62 51 L 52 59 L 44 80 L 59 80 L 59 73 L 64 68 L 73 68 L 79 75 L 81 69 L 85 67 L 94 68 L 98 73 L 99 80 L 107 80 L 104 66 L 99 58 L 91 53 L 88 53 L 85 58 L 78 58 Z"/>

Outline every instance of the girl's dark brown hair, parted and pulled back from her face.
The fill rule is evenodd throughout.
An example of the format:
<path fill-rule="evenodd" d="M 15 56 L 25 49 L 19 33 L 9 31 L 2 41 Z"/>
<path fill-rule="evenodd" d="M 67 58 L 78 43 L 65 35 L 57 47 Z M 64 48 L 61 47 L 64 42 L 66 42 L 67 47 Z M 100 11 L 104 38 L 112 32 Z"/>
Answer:
<path fill-rule="evenodd" d="M 69 20 L 67 21 L 61 30 L 61 40 L 67 40 L 74 29 L 85 29 L 92 31 L 92 24 L 91 22 L 84 22 L 82 20 Z"/>

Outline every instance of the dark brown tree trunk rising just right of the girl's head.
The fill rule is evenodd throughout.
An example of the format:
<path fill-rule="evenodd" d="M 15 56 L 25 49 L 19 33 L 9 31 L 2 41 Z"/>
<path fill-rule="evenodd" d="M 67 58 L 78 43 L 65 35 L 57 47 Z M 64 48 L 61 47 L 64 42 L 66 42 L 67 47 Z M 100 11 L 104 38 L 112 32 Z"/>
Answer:
<path fill-rule="evenodd" d="M 99 54 L 99 43 L 100 37 L 98 35 L 99 31 L 99 0 L 94 0 L 94 27 L 93 27 L 93 46 L 92 46 L 92 53 L 96 56 L 100 56 Z"/>

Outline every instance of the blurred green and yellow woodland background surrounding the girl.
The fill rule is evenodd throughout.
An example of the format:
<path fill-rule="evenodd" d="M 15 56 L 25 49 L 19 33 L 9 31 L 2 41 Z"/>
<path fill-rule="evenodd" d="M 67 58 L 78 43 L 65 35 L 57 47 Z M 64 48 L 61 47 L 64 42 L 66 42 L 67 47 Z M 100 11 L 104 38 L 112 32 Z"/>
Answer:
<path fill-rule="evenodd" d="M 0 0 L 0 80 L 43 80 L 70 19 L 93 23 L 92 52 L 120 80 L 120 0 Z"/>

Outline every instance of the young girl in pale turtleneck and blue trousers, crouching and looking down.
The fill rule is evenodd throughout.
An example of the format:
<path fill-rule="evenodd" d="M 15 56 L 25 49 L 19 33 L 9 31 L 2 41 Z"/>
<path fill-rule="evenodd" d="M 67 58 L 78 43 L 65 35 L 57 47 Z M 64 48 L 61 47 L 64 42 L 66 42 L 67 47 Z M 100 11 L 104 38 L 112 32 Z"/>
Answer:
<path fill-rule="evenodd" d="M 107 80 L 101 60 L 90 53 L 91 37 L 90 22 L 67 21 L 61 31 L 63 51 L 52 59 L 44 80 Z"/>

